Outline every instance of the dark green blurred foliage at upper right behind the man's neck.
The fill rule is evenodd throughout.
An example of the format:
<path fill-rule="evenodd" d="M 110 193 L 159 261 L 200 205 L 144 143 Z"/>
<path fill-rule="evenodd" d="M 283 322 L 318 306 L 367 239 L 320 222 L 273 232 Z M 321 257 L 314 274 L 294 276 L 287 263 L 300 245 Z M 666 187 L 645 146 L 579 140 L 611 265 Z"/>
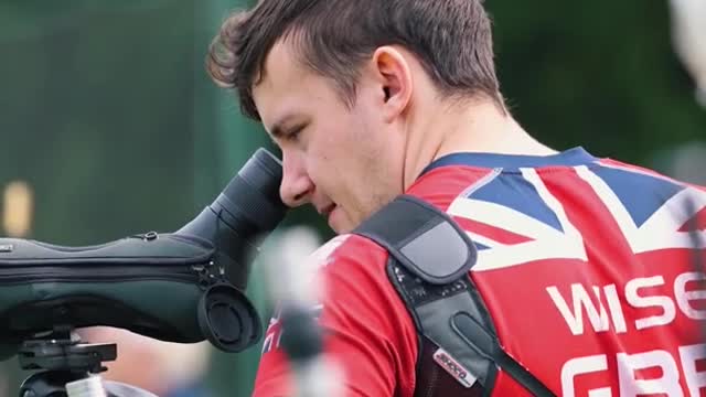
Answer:
<path fill-rule="evenodd" d="M 558 149 L 582 144 L 643 165 L 660 148 L 706 139 L 706 111 L 674 56 L 667 6 L 488 1 L 514 115 Z"/>

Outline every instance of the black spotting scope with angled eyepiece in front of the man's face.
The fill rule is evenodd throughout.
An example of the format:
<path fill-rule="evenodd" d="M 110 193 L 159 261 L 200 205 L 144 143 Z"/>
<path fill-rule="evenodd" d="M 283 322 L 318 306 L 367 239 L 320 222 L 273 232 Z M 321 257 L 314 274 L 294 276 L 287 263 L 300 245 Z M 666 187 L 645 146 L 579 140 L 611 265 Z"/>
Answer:
<path fill-rule="evenodd" d="M 281 162 L 258 149 L 215 201 L 174 233 L 89 247 L 0 238 L 0 360 L 24 341 L 107 325 L 239 352 L 261 336 L 245 296 L 252 259 L 286 215 Z"/>

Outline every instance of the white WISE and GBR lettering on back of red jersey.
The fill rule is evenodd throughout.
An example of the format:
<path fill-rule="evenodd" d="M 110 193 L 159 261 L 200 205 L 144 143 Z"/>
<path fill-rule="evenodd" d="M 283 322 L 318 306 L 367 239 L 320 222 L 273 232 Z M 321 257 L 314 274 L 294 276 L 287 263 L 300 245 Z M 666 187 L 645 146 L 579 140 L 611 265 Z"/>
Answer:
<path fill-rule="evenodd" d="M 621 333 L 632 326 L 632 330 L 641 331 L 668 325 L 675 321 L 678 311 L 692 320 L 706 319 L 706 310 L 702 309 L 703 300 L 706 299 L 704 280 L 704 273 L 687 271 L 677 275 L 673 282 L 665 280 L 663 276 L 631 279 L 624 285 L 624 294 L 618 292 L 616 285 L 600 287 L 573 283 L 570 297 L 563 296 L 556 286 L 546 290 L 573 335 L 582 335 L 591 331 L 605 332 L 609 329 Z M 589 293 L 589 290 L 592 293 Z M 566 289 L 564 291 L 567 292 Z M 621 297 L 624 301 L 621 301 Z M 702 304 L 697 304 L 696 301 L 702 301 Z M 627 308 L 630 308 L 631 313 L 637 313 L 630 322 L 625 321 Z M 640 315 L 640 310 L 649 310 L 650 315 Z M 585 324 L 585 316 L 588 318 L 586 322 L 590 323 L 590 326 Z M 611 355 L 574 357 L 561 367 L 561 393 L 564 396 L 575 396 L 577 383 L 581 379 L 597 379 L 595 376 L 588 377 L 589 374 L 614 371 L 616 374 L 609 376 L 606 373 L 603 377 L 617 378 L 617 388 L 608 384 L 593 385 L 593 388 L 588 390 L 588 396 L 699 396 L 702 389 L 706 388 L 706 372 L 699 371 L 702 367 L 696 363 L 706 360 L 706 344 L 678 346 L 677 352 L 656 348 L 637 353 L 619 352 Z M 611 360 L 612 365 L 609 363 Z M 659 376 L 645 378 L 641 373 L 645 369 L 652 369 L 652 373 Z M 681 380 L 686 385 L 685 389 Z M 581 388 L 580 393 L 587 391 Z"/>

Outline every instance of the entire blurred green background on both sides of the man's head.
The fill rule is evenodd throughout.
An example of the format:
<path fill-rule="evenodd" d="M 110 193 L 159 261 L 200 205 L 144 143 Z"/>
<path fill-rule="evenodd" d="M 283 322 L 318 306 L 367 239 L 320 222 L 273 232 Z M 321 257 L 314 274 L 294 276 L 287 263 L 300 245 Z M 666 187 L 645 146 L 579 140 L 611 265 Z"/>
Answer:
<path fill-rule="evenodd" d="M 246 4 L 0 0 L 0 193 L 13 181 L 31 187 L 25 237 L 90 245 L 174 230 L 269 144 L 203 67 L 221 22 Z M 520 122 L 556 149 L 580 144 L 657 169 L 665 152 L 706 140 L 667 6 L 488 0 Z M 312 222 L 330 236 L 313 215 L 293 212 L 285 226 Z M 248 293 L 267 319 L 257 267 Z M 181 395 L 249 395 L 259 346 L 210 354 L 200 389 Z M 0 396 L 17 395 L 17 367 L 0 363 Z"/>

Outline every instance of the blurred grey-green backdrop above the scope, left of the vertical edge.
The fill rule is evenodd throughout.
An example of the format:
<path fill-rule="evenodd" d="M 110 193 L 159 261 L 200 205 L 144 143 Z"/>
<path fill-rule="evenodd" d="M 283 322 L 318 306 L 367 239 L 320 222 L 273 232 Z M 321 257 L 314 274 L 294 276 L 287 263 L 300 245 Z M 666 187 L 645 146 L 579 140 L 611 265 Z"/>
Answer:
<path fill-rule="evenodd" d="M 0 190 L 34 190 L 28 237 L 92 245 L 193 215 L 193 7 L 0 2 Z M 25 374 L 9 373 L 12 396 Z"/>

